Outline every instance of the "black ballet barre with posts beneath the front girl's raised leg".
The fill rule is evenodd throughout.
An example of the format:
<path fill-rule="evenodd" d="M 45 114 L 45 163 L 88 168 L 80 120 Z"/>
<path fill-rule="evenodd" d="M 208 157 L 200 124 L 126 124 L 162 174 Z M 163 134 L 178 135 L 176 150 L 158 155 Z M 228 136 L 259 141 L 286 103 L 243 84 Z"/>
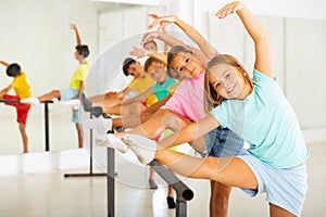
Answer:
<path fill-rule="evenodd" d="M 106 176 L 106 202 L 108 202 L 108 217 L 114 217 L 114 200 L 115 200 L 115 161 L 114 149 L 108 148 L 108 176 Z M 156 174 L 170 184 L 176 192 L 176 217 L 187 216 L 187 201 L 193 197 L 193 192 L 183 181 L 180 181 L 174 173 L 160 164 L 158 161 L 152 161 L 149 164 Z"/>

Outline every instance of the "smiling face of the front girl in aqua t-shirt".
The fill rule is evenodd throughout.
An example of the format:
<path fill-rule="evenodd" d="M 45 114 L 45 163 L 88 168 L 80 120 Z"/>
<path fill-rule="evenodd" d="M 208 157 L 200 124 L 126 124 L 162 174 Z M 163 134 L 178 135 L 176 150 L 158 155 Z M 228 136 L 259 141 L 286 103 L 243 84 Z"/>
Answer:
<path fill-rule="evenodd" d="M 240 67 L 217 64 L 211 67 L 209 80 L 214 90 L 224 99 L 243 100 L 251 90 L 244 81 Z M 251 89 L 251 88 L 250 88 Z"/>

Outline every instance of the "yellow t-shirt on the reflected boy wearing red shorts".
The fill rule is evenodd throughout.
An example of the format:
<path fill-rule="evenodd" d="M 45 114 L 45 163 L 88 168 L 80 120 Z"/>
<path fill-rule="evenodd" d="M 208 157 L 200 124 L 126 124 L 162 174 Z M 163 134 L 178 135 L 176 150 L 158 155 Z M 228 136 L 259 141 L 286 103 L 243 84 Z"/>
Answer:
<path fill-rule="evenodd" d="M 21 75 L 14 77 L 11 86 L 15 90 L 16 95 L 18 95 L 21 99 L 32 97 L 32 89 L 24 72 L 21 72 Z"/>

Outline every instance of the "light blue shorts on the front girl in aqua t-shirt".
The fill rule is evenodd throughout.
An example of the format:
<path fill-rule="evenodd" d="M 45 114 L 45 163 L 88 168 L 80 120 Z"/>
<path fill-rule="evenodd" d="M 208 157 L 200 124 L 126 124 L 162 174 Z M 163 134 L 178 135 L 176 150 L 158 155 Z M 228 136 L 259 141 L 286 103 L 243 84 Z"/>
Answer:
<path fill-rule="evenodd" d="M 241 158 L 251 168 L 259 182 L 256 190 L 242 189 L 248 195 L 266 193 L 266 200 L 296 216 L 301 215 L 308 191 L 305 164 L 293 168 L 274 168 L 250 152 L 244 151 Z"/>

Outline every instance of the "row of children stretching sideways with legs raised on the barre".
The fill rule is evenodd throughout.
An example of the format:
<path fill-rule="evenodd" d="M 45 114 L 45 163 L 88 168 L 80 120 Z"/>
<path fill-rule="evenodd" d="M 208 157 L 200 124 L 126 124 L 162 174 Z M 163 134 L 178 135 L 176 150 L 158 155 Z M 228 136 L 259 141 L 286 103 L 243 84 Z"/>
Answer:
<path fill-rule="evenodd" d="M 145 67 L 133 59 L 125 60 L 123 71 L 134 80 L 121 92 L 86 98 L 79 82 L 74 98 L 85 111 L 97 117 L 102 113 L 118 115 L 87 119 L 83 125 L 99 132 L 98 144 L 122 154 L 131 152 L 138 163 L 156 159 L 181 176 L 211 180 L 210 216 L 227 216 L 233 187 L 250 196 L 265 193 L 269 216 L 300 216 L 308 191 L 309 151 L 298 118 L 276 82 L 265 30 L 241 2 L 226 4 L 216 16 L 234 13 L 254 43 L 253 76 L 236 58 L 220 53 L 177 16 L 151 15 L 149 28 L 159 28 L 147 33 L 142 42 L 162 40 L 171 50 L 161 55 L 134 49 L 131 54 L 149 59 Z M 198 48 L 162 31 L 171 24 Z M 142 88 L 139 94 L 125 100 L 126 93 L 137 88 Z M 54 93 L 52 98 L 62 100 L 63 93 Z M 108 133 L 116 127 L 131 129 Z M 167 129 L 173 133 L 162 139 Z M 243 141 L 249 143 L 246 150 Z M 186 142 L 200 156 L 168 149 Z"/>

